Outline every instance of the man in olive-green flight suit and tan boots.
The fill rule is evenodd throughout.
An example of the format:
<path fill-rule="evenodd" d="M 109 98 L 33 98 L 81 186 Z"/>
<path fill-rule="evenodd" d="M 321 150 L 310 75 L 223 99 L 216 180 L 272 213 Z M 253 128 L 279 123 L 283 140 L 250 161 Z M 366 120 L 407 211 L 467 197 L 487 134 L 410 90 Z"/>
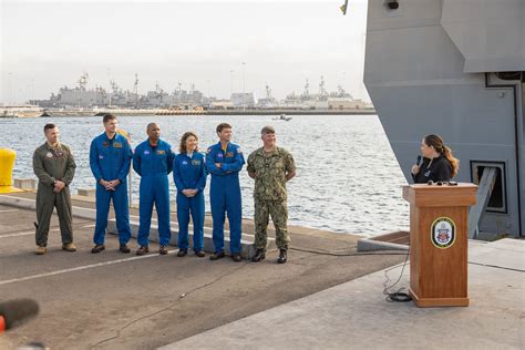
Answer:
<path fill-rule="evenodd" d="M 37 191 L 37 250 L 38 255 L 47 251 L 48 234 L 53 208 L 59 215 L 62 249 L 76 251 L 73 244 L 71 216 L 71 193 L 69 184 L 76 167 L 70 147 L 59 142 L 59 127 L 45 124 L 47 142 L 34 151 L 33 171 L 39 178 Z"/>

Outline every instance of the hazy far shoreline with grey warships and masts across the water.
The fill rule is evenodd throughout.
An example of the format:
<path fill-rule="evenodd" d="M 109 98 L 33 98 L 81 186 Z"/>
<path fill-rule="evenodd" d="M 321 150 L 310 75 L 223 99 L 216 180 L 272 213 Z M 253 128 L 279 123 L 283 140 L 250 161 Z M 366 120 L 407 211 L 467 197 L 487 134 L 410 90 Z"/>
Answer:
<path fill-rule="evenodd" d="M 158 82 L 154 91 L 145 94 L 138 92 L 138 75 L 135 74 L 133 90 L 123 90 L 117 83 L 110 79 L 111 91 L 95 85 L 87 89 L 89 74 L 83 73 L 78 81 L 78 86 L 70 89 L 61 87 L 56 94 L 51 94 L 48 100 L 32 100 L 31 105 L 42 109 L 53 109 L 54 112 L 89 113 L 96 110 L 373 110 L 370 103 L 354 100 L 349 93 L 338 86 L 337 92 L 328 92 L 325 80 L 321 76 L 318 93 L 309 92 L 307 80 L 305 92 L 301 95 L 289 94 L 285 100 L 278 101 L 271 95 L 271 89 L 266 84 L 266 96 L 257 99 L 254 92 L 233 92 L 229 100 L 218 100 L 205 96 L 203 92 L 191 84 L 189 90 L 183 90 L 182 83 L 173 92 L 167 92 Z M 161 113 L 161 112 L 159 112 Z"/>

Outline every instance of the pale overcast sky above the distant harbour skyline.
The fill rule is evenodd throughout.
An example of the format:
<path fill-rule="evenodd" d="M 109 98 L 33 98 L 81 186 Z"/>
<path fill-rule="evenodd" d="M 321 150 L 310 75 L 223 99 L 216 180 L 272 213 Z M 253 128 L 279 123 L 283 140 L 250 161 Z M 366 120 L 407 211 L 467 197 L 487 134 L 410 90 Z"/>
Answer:
<path fill-rule="evenodd" d="M 0 102 L 49 99 L 74 87 L 138 92 L 158 84 L 229 99 L 276 99 L 341 85 L 370 101 L 362 83 L 367 1 L 25 1 L 0 0 Z"/>

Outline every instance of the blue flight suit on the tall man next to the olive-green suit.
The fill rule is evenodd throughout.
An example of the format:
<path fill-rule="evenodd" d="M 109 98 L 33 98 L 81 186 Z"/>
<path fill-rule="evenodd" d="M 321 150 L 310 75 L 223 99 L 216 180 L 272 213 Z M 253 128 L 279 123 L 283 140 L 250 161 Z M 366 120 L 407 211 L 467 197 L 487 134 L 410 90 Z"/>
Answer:
<path fill-rule="evenodd" d="M 131 158 L 130 143 L 121 134 L 116 134 L 110 140 L 106 133 L 103 133 L 91 142 L 90 167 L 96 179 L 96 224 L 93 237 L 95 245 L 104 244 L 111 200 L 113 200 L 115 209 L 120 244 L 125 245 L 131 238 L 126 185 Z M 101 179 L 113 181 L 116 178 L 121 181 L 121 184 L 115 187 L 115 191 L 106 191 L 100 184 Z"/>

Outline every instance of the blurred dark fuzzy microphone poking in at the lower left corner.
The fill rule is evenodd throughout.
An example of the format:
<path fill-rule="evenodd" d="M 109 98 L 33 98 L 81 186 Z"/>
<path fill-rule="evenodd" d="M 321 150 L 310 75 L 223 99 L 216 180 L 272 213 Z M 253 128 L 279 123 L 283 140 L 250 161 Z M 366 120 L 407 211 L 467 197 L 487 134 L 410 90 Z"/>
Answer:
<path fill-rule="evenodd" d="M 0 302 L 0 333 L 25 323 L 39 313 L 39 305 L 31 299 Z"/>

